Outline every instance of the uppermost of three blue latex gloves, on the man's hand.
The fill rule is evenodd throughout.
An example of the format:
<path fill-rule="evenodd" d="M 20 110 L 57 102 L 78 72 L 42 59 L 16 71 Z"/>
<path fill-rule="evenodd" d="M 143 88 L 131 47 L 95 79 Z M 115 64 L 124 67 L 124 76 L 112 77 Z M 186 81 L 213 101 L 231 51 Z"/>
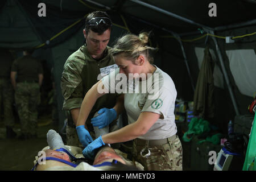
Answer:
<path fill-rule="evenodd" d="M 112 121 L 115 120 L 115 118 L 117 118 L 117 111 L 115 111 L 113 108 L 108 109 L 104 107 L 98 111 L 98 114 L 100 115 L 91 119 L 92 125 L 98 126 L 98 129 L 108 126 L 110 123 L 112 123 Z"/>

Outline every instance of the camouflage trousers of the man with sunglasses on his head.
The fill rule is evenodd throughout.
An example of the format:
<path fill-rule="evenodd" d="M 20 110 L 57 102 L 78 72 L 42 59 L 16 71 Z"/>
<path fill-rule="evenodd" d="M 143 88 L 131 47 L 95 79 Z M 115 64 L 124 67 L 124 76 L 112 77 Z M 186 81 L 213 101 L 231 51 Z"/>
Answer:
<path fill-rule="evenodd" d="M 118 126 L 117 126 L 117 122 L 112 122 L 109 125 L 109 132 L 118 130 Z M 76 132 L 76 127 L 74 126 L 70 126 L 67 125 L 66 126 L 66 134 L 67 134 L 67 145 L 68 146 L 76 146 L 76 147 L 82 147 L 84 148 L 84 146 L 82 146 L 81 142 L 79 141 L 79 137 L 77 135 Z M 90 131 L 90 136 L 92 137 L 92 139 L 96 139 L 95 137 L 95 133 L 93 131 Z M 113 148 L 118 148 L 118 144 L 112 144 Z M 118 146 L 118 147 L 117 147 Z"/>

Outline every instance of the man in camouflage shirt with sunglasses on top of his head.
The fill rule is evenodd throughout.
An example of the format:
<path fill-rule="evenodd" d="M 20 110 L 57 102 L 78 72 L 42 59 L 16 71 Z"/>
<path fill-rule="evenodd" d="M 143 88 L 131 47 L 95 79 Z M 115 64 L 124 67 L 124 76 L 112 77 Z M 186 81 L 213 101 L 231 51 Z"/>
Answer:
<path fill-rule="evenodd" d="M 111 48 L 107 46 L 111 27 L 112 22 L 109 15 L 104 11 L 90 13 L 86 18 L 85 29 L 83 30 L 86 46 L 81 46 L 72 53 L 64 65 L 61 77 L 61 90 L 64 97 L 63 109 L 67 110 L 68 118 L 71 118 L 68 119 L 66 127 L 68 145 L 81 146 L 81 141 L 79 142 L 77 136 L 76 123 L 86 92 L 100 80 L 101 76 L 107 75 L 110 68 L 115 67 L 113 56 L 110 54 Z M 104 107 L 108 108 L 106 111 L 109 111 L 115 105 L 116 98 L 117 94 L 107 94 L 94 105 L 85 124 L 85 128 L 90 131 L 92 137 L 94 133 L 90 119 L 96 111 Z M 106 114 L 105 118 L 108 118 L 108 115 Z M 109 127 L 110 131 L 117 130 L 116 120 L 110 123 Z"/>

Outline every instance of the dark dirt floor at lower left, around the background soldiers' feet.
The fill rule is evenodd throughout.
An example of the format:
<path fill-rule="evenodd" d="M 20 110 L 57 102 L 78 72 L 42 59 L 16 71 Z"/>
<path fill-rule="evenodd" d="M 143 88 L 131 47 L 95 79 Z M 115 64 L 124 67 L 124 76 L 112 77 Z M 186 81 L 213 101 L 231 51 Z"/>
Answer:
<path fill-rule="evenodd" d="M 49 129 L 57 131 L 53 126 L 51 115 L 42 116 L 38 121 L 38 138 L 19 140 L 6 139 L 4 123 L 0 122 L 0 170 L 27 171 L 34 166 L 35 156 L 48 146 L 46 134 Z M 20 134 L 20 125 L 15 123 L 14 131 Z"/>

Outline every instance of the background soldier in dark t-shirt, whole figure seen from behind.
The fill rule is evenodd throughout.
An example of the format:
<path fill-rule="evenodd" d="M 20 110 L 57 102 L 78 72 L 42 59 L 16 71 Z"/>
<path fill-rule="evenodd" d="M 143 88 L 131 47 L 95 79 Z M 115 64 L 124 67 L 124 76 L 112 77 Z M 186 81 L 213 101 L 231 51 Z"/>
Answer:
<path fill-rule="evenodd" d="M 24 51 L 24 56 L 16 59 L 11 67 L 11 83 L 15 90 L 15 103 L 22 130 L 20 139 L 37 137 L 37 107 L 40 101 L 43 68 L 40 61 L 31 56 L 32 53 L 32 50 Z"/>

